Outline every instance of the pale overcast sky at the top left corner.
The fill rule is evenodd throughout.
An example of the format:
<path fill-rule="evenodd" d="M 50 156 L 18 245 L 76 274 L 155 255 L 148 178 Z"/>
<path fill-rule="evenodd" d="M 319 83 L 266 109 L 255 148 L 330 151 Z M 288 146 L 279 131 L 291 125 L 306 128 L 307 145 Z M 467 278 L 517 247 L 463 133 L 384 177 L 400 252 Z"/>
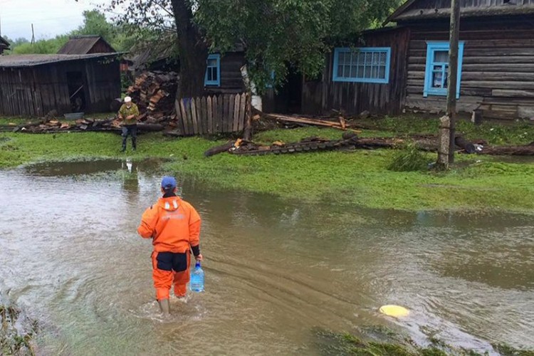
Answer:
<path fill-rule="evenodd" d="M 98 0 L 0 0 L 0 30 L 11 39 L 31 39 L 31 23 L 36 40 L 67 33 L 83 23 L 84 10 L 101 4 Z"/>

